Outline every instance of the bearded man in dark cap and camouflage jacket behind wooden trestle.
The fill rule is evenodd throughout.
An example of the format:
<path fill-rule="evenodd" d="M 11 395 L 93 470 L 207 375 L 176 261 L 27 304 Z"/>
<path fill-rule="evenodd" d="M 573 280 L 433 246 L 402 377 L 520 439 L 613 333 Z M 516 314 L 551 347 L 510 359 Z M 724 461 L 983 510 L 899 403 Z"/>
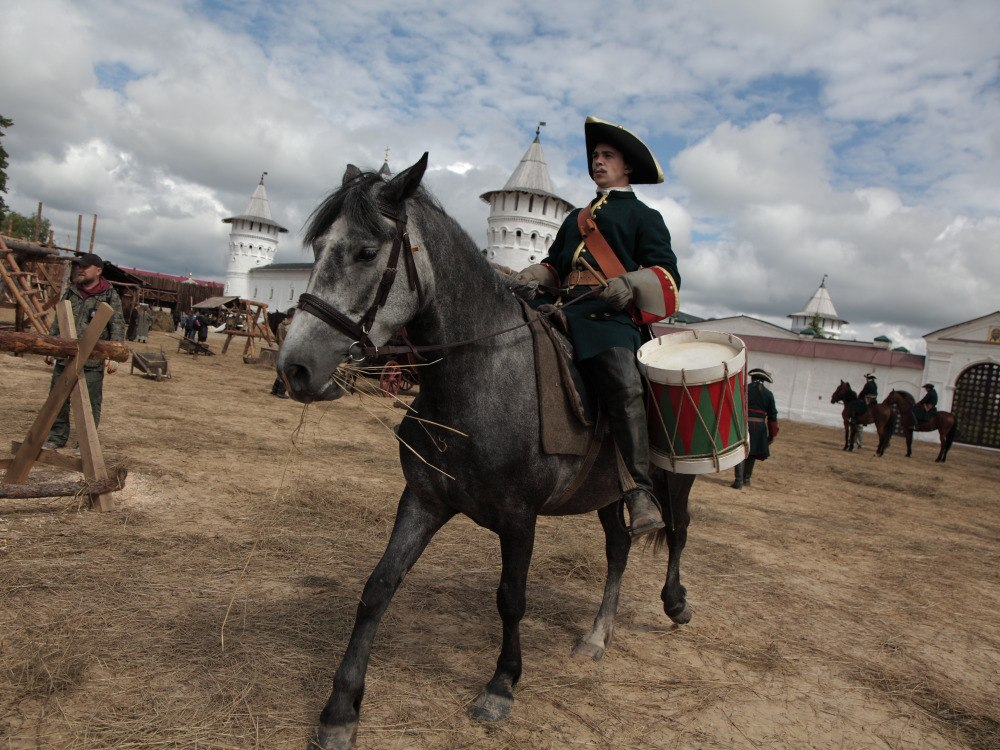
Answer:
<path fill-rule="evenodd" d="M 97 307 L 102 302 L 105 302 L 111 305 L 113 312 L 111 320 L 108 321 L 107 325 L 104 326 L 104 330 L 101 331 L 100 340 L 124 341 L 125 316 L 122 314 L 122 301 L 118 296 L 118 292 L 104 278 L 104 261 L 93 253 L 85 253 L 75 258 L 72 263 L 71 278 L 73 283 L 70 284 L 62 298 L 69 300 L 72 307 L 77 338 L 87 328 L 87 325 L 94 317 L 94 313 L 97 312 Z M 58 319 L 52 324 L 50 333 L 53 336 L 59 335 Z M 52 369 L 52 383 L 49 386 L 50 392 L 65 369 L 66 360 L 55 360 L 55 367 Z M 101 422 L 101 406 L 104 400 L 104 373 L 106 371 L 110 375 L 117 369 L 118 365 L 115 362 L 108 360 L 105 363 L 101 359 L 88 359 L 83 366 L 83 379 L 87 384 L 87 393 L 90 394 L 90 410 L 94 415 L 95 427 Z M 62 409 L 59 410 L 56 421 L 52 423 L 52 429 L 49 430 L 49 436 L 45 441 L 44 447 L 55 450 L 64 447 L 66 441 L 69 440 L 69 401 L 67 397 L 66 402 L 62 405 Z"/>

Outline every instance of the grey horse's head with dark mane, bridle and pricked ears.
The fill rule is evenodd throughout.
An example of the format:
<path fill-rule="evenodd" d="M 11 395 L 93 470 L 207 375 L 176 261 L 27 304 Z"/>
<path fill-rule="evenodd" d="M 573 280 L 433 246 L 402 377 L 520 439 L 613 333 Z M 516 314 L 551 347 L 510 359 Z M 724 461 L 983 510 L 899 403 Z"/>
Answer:
<path fill-rule="evenodd" d="M 331 379 L 336 368 L 385 345 L 433 291 L 427 253 L 416 251 L 426 247 L 419 227 L 407 224 L 407 200 L 426 169 L 426 153 L 388 182 L 349 165 L 340 189 L 313 212 L 305 242 L 315 264 L 277 363 L 292 398 L 343 395 Z"/>

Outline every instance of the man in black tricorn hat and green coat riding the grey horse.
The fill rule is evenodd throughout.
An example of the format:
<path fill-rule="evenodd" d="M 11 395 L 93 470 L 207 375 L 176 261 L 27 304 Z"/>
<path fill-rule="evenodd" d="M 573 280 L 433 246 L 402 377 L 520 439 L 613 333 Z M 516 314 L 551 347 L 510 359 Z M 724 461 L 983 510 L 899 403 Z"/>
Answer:
<path fill-rule="evenodd" d="M 632 185 L 663 182 L 656 157 L 620 125 L 588 117 L 583 129 L 597 197 L 587 208 L 570 212 L 546 260 L 525 268 L 516 281 L 566 287 L 571 298 L 601 290 L 566 307 L 565 314 L 577 363 L 604 404 L 636 485 L 622 500 L 629 509 L 629 532 L 637 537 L 664 524 L 649 477 L 646 408 L 635 353 L 643 342 L 640 327 L 676 312 L 681 277 L 663 217 L 632 191 Z"/>

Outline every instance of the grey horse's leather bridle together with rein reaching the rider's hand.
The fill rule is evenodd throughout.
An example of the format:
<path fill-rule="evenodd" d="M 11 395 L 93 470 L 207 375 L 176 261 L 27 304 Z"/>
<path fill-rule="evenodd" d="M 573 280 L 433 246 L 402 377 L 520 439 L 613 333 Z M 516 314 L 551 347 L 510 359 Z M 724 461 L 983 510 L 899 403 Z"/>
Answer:
<path fill-rule="evenodd" d="M 300 310 L 319 318 L 334 330 L 350 336 L 354 340 L 354 343 L 347 348 L 347 355 L 353 361 L 362 362 L 368 357 L 392 354 L 413 354 L 417 358 L 422 359 L 422 357 L 420 357 L 422 352 L 454 349 L 459 346 L 473 344 L 477 341 L 483 341 L 484 339 L 500 336 L 504 333 L 515 331 L 518 328 L 524 328 L 525 326 L 531 325 L 531 321 L 525 321 L 515 326 L 511 326 L 510 328 L 505 328 L 502 331 L 494 331 L 493 333 L 487 333 L 483 336 L 477 336 L 476 338 L 465 339 L 463 341 L 453 341 L 445 344 L 427 344 L 417 346 L 403 336 L 402 338 L 406 343 L 402 346 L 376 346 L 368 337 L 368 334 L 371 332 L 372 325 L 375 323 L 375 316 L 378 314 L 378 311 L 382 308 L 382 306 L 385 305 L 385 301 L 389 296 L 389 290 L 392 288 L 392 284 L 396 280 L 399 256 L 403 250 L 405 250 L 405 252 L 402 252 L 403 262 L 406 265 L 406 273 L 410 280 L 410 291 L 416 291 L 418 304 L 420 307 L 424 306 L 424 290 L 420 285 L 420 278 L 417 276 L 417 264 L 413 258 L 413 254 L 417 252 L 417 248 L 410 244 L 410 235 L 406 230 L 406 208 L 401 207 L 399 213 L 394 213 L 386 206 L 379 206 L 379 213 L 395 224 L 396 233 L 392 240 L 392 249 L 389 251 L 389 262 L 386 264 L 385 271 L 382 273 L 382 280 L 379 282 L 378 289 L 375 292 L 375 299 L 372 300 L 371 306 L 368 308 L 368 311 L 364 314 L 364 316 L 362 316 L 361 320 L 355 323 L 342 312 L 334 308 L 326 300 L 321 297 L 317 297 L 315 294 L 304 292 L 299 295 L 298 307 Z M 581 294 L 580 296 L 576 296 L 570 301 L 564 303 L 562 307 L 579 302 L 585 297 L 589 297 L 596 291 L 598 290 L 592 289 L 584 294 Z M 547 317 L 556 311 L 557 310 L 552 310 L 550 312 L 539 313 L 539 317 Z"/>

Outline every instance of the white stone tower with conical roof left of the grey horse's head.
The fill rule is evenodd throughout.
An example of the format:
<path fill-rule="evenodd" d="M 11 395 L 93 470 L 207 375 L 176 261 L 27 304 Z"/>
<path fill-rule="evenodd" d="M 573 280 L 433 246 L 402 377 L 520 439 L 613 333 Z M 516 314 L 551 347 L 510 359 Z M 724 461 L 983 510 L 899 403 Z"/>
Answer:
<path fill-rule="evenodd" d="M 264 189 L 264 172 L 260 184 L 250 196 L 250 202 L 238 216 L 223 219 L 223 224 L 232 224 L 229 232 L 229 258 L 226 265 L 227 296 L 249 298 L 247 272 L 257 266 L 266 266 L 274 260 L 278 250 L 278 235 L 287 232 L 283 226 L 271 218 L 271 203 Z"/>

